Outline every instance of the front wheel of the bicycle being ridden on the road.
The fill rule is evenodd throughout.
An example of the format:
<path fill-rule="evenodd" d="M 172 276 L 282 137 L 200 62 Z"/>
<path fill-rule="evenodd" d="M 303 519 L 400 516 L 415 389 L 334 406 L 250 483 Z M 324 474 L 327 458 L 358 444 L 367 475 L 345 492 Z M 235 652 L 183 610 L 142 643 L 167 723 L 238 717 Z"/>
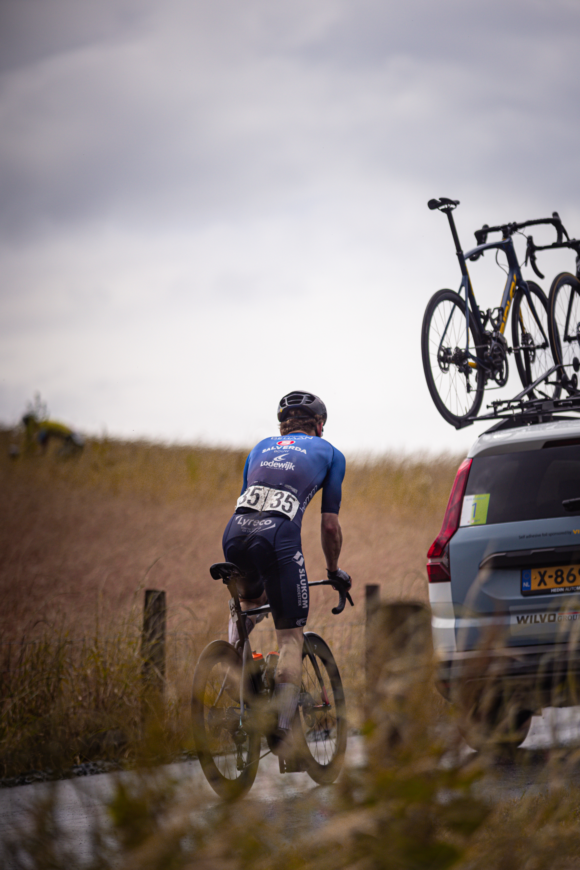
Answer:
<path fill-rule="evenodd" d="M 312 780 L 325 785 L 337 779 L 346 736 L 346 704 L 337 663 L 321 637 L 305 632 L 294 740 Z"/>

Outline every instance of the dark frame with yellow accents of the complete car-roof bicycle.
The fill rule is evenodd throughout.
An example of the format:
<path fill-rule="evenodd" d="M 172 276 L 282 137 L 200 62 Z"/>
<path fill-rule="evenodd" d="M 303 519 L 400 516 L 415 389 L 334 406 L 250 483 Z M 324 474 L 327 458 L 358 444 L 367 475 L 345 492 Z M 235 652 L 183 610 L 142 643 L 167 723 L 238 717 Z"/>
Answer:
<path fill-rule="evenodd" d="M 459 267 L 462 274 L 461 284 L 459 285 L 459 294 L 462 295 L 463 292 L 463 295 L 465 297 L 466 356 L 473 360 L 477 365 L 480 365 L 484 370 L 491 370 L 492 366 L 486 363 L 485 360 L 481 358 L 481 356 L 474 356 L 472 353 L 470 353 L 470 314 L 472 314 L 475 318 L 476 325 L 481 336 L 483 336 L 485 332 L 485 320 L 482 320 L 481 311 L 479 310 L 479 306 L 477 305 L 477 300 L 475 298 L 473 286 L 471 284 L 470 273 L 467 270 L 467 264 L 465 261 L 471 258 L 477 259 L 477 257 L 479 257 L 480 254 L 483 253 L 483 251 L 490 251 L 492 249 L 496 249 L 497 251 L 503 251 L 508 260 L 508 278 L 503 288 L 502 302 L 498 309 L 500 313 L 496 323 L 494 323 L 494 321 L 490 318 L 491 325 L 494 327 L 494 332 L 499 332 L 500 335 L 503 335 L 503 332 L 505 331 L 505 326 L 508 322 L 508 315 L 510 314 L 510 306 L 512 299 L 514 298 L 514 293 L 517 290 L 521 289 L 525 293 L 528 304 L 530 305 L 530 311 L 532 312 L 532 315 L 540 328 L 546 346 L 550 346 L 549 339 L 546 336 L 545 331 L 543 330 L 542 322 L 537 316 L 536 306 L 534 305 L 531 298 L 528 284 L 523 279 L 522 271 L 520 270 L 519 264 L 517 262 L 516 251 L 514 249 L 514 244 L 511 236 L 504 236 L 498 242 L 486 242 L 485 244 L 478 244 L 477 247 L 472 248 L 471 251 L 466 251 L 465 253 L 463 253 L 463 249 L 461 247 L 461 244 L 459 243 L 459 237 L 457 235 L 455 221 L 453 219 L 452 208 L 447 207 L 442 209 L 441 211 L 445 212 L 445 214 L 447 215 L 447 219 L 449 220 L 451 235 L 453 236 L 453 241 L 455 243 L 457 259 L 459 261 Z M 447 325 L 445 326 L 445 330 L 443 331 L 443 336 L 439 344 L 439 349 L 441 349 L 443 345 L 443 339 L 445 337 L 446 331 Z"/>

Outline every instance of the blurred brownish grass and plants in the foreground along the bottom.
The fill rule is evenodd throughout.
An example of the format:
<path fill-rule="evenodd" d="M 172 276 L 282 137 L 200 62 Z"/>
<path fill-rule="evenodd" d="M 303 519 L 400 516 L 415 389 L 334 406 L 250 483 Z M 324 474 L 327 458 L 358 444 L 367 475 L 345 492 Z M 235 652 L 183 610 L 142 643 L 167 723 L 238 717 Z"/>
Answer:
<path fill-rule="evenodd" d="M 366 760 L 335 786 L 273 801 L 208 806 L 163 768 L 117 780 L 90 816 L 80 855 L 57 787 L 45 788 L 4 838 L 4 866 L 196 870 L 559 870 L 580 860 L 580 792 L 563 779 L 577 753 L 552 753 L 541 787 L 516 799 L 494 787 L 497 764 L 467 755 L 456 713 L 432 689 L 429 620 L 377 636 L 364 696 Z M 525 764 L 525 761 L 520 763 Z M 82 790 L 80 791 L 82 800 Z M 277 812 L 270 812 L 273 803 Z"/>

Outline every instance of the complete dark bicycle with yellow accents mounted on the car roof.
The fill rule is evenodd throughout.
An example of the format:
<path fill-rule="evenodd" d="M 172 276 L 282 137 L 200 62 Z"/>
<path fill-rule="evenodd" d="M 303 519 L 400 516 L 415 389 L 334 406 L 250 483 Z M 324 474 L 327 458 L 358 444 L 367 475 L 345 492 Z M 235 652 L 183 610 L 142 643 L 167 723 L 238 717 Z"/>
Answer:
<path fill-rule="evenodd" d="M 487 385 L 491 382 L 499 388 L 507 383 L 511 353 L 523 390 L 530 398 L 560 395 L 563 371 L 555 365 L 550 346 L 548 299 L 538 284 L 523 280 L 511 237 L 527 226 L 552 224 L 560 240 L 562 224 L 556 213 L 552 218 L 523 224 L 483 224 L 475 232 L 477 247 L 463 252 L 452 214 L 458 204 L 457 199 L 447 197 L 430 199 L 428 203 L 430 209 L 443 211 L 449 220 L 462 279 L 458 293 L 440 290 L 430 298 L 423 317 L 421 351 L 427 386 L 438 412 L 461 429 L 477 417 Z M 488 242 L 491 232 L 501 232 L 501 240 Z M 477 260 L 484 251 L 493 249 L 503 251 L 507 258 L 507 280 L 501 304 L 483 314 L 477 305 L 466 260 Z M 541 249 L 533 241 L 531 246 L 528 244 L 526 264 L 530 259 L 535 271 L 536 250 Z M 504 336 L 510 309 L 513 346 Z M 488 325 L 490 328 L 486 329 Z"/>

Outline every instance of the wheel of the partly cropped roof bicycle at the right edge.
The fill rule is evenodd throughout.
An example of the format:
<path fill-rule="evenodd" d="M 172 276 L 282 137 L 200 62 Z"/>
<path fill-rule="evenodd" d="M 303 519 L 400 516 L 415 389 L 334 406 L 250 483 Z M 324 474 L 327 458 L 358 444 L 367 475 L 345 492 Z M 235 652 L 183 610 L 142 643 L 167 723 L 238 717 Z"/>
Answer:
<path fill-rule="evenodd" d="M 555 362 L 569 366 L 580 359 L 580 282 L 570 272 L 552 281 L 548 298 L 548 326 Z"/>

